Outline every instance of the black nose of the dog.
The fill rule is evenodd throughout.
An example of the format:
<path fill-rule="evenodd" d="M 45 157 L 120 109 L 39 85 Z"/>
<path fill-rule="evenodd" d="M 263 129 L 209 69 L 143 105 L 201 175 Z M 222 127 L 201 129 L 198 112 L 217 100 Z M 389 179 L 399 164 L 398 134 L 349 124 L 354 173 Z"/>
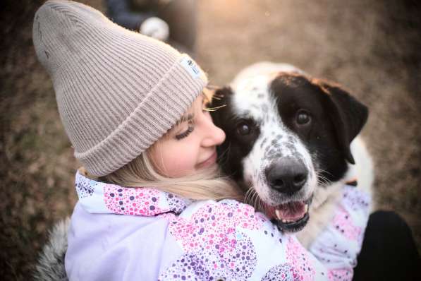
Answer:
<path fill-rule="evenodd" d="M 281 158 L 264 171 L 272 189 L 292 194 L 299 191 L 307 181 L 307 168 L 292 158 Z"/>

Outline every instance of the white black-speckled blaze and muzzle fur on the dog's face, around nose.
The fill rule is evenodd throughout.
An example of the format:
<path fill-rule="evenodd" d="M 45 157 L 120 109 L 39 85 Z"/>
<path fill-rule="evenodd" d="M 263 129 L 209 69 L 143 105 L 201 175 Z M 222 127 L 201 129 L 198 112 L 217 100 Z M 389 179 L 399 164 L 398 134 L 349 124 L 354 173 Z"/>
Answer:
<path fill-rule="evenodd" d="M 310 153 L 293 132 L 283 125 L 276 109 L 276 100 L 269 90 L 271 75 L 255 76 L 239 81 L 233 90 L 233 107 L 240 116 L 250 117 L 260 124 L 260 136 L 249 155 L 243 160 L 244 178 L 252 182 L 260 198 L 270 205 L 307 200 L 314 191 L 316 174 Z M 264 170 L 279 157 L 294 157 L 310 171 L 307 183 L 293 198 L 283 198 L 279 192 L 267 188 Z"/>

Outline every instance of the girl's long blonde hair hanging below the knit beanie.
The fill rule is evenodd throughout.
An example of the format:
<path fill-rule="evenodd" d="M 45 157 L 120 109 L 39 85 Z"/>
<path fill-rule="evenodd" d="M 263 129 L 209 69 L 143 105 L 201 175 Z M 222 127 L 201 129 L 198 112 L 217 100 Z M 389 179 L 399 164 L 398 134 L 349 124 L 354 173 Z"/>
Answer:
<path fill-rule="evenodd" d="M 205 90 L 203 95 L 205 95 L 207 100 L 212 98 L 212 94 L 209 95 L 209 92 Z M 178 123 L 183 121 L 185 120 L 182 118 Z M 168 133 L 162 136 L 162 138 L 167 137 Z M 162 176 L 156 171 L 152 163 L 152 157 L 150 157 L 151 151 L 157 149 L 157 145 L 159 143 L 155 143 L 145 153 L 142 153 L 115 172 L 97 179 L 120 186 L 159 189 L 160 191 L 166 191 L 193 200 L 221 200 L 226 198 L 238 201 L 244 200 L 244 193 L 231 179 L 221 175 L 217 165 L 201 169 L 195 174 L 185 177 L 169 178 Z M 81 169 L 81 171 L 85 176 L 93 178 L 84 169 Z"/>

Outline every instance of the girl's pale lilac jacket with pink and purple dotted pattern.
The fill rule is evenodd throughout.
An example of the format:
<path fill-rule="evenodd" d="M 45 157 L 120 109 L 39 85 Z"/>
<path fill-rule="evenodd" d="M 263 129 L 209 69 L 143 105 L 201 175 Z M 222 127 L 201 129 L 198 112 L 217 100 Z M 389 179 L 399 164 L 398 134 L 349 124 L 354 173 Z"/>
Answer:
<path fill-rule="evenodd" d="M 331 225 L 307 251 L 237 201 L 188 201 L 76 174 L 69 280 L 351 280 L 370 198 L 344 187 Z"/>

